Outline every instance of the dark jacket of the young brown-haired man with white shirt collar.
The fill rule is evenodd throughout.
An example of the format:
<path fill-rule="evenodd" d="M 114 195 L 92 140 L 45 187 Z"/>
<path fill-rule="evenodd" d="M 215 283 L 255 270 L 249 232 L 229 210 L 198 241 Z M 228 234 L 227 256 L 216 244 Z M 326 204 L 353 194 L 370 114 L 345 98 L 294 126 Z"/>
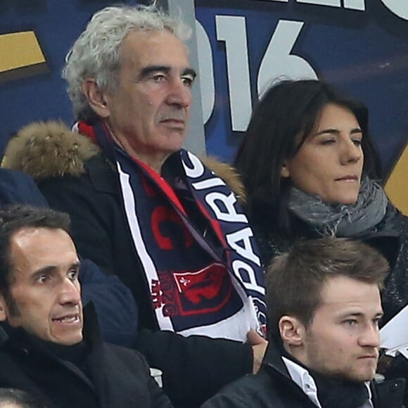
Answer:
<path fill-rule="evenodd" d="M 403 408 L 404 380 L 372 383 L 374 408 Z M 257 374 L 249 374 L 227 385 L 201 408 L 316 408 L 293 382 L 274 344 L 269 343 Z"/>

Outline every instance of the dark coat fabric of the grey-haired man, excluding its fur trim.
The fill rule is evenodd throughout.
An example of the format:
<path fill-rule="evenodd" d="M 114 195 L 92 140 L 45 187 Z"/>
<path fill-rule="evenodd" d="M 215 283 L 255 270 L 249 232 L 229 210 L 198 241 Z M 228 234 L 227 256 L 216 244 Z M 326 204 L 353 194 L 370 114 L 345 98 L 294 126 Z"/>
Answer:
<path fill-rule="evenodd" d="M 150 289 L 120 204 L 116 174 L 101 155 L 85 167 L 82 177 L 45 179 L 39 188 L 51 208 L 70 214 L 80 253 L 108 274 L 117 274 L 134 293 L 139 307 L 136 348 L 151 366 L 163 371 L 164 389 L 174 405 L 198 406 L 223 385 L 252 371 L 252 348 L 232 340 L 158 331 Z"/>

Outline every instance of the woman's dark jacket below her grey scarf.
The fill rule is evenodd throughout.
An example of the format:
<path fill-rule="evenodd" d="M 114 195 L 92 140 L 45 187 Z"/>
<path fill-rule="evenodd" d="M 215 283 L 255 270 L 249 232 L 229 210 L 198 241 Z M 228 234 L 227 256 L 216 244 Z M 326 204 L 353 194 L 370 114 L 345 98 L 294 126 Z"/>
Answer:
<path fill-rule="evenodd" d="M 291 214 L 291 234 L 283 236 L 268 217 L 269 208 L 265 203 L 251 203 L 250 221 L 257 237 L 262 260 L 267 265 L 273 257 L 285 252 L 299 239 L 319 238 L 310 225 Z M 408 217 L 404 216 L 391 203 L 388 203 L 385 216 L 376 226 L 359 236 L 351 236 L 374 246 L 387 257 L 390 272 L 385 279 L 381 293 L 385 324 L 408 305 Z M 398 355 L 381 374 L 387 379 L 403 377 L 408 381 L 408 360 Z M 408 387 L 405 390 L 404 404 L 408 406 Z"/>

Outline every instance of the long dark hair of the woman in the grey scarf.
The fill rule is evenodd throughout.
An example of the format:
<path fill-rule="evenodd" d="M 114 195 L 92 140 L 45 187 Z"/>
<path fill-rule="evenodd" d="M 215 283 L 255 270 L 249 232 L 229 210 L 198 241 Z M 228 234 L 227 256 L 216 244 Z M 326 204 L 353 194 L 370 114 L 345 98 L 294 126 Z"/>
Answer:
<path fill-rule="evenodd" d="M 250 217 L 272 217 L 276 227 L 288 232 L 291 182 L 281 178 L 281 168 L 284 160 L 298 152 L 327 103 L 348 108 L 355 115 L 363 134 L 363 174 L 381 178 L 366 106 L 321 80 L 284 80 L 270 87 L 255 106 L 234 161 L 246 188 Z"/>

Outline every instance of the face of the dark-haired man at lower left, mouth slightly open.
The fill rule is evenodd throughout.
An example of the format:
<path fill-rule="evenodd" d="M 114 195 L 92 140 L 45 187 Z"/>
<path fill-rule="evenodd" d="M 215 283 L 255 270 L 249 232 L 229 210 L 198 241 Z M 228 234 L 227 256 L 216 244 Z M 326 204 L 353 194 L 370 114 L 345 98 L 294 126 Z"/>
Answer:
<path fill-rule="evenodd" d="M 11 237 L 11 283 L 0 295 L 0 320 L 42 340 L 82 340 L 79 259 L 62 229 L 26 228 Z"/>

